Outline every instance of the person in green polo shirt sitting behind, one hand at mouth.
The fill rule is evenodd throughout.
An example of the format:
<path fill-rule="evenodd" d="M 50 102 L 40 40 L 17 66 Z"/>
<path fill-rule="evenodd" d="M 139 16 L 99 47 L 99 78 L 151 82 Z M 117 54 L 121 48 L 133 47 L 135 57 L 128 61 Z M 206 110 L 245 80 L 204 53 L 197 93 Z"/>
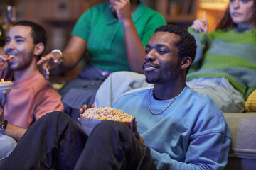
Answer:
<path fill-rule="evenodd" d="M 97 88 L 110 73 L 142 72 L 144 46 L 154 30 L 165 24 L 160 13 L 140 1 L 110 0 L 85 11 L 75 24 L 67 47 L 53 50 L 38 64 L 43 64 L 48 79 L 50 69 L 72 69 L 87 52 L 87 62 L 78 78 L 59 91 L 70 114 L 82 104 L 93 103 Z"/>

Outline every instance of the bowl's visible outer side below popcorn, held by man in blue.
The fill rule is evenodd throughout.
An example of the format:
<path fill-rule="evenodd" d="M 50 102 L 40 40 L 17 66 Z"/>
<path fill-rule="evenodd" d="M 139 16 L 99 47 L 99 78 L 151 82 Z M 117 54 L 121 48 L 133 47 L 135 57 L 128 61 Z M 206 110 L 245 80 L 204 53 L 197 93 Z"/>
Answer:
<path fill-rule="evenodd" d="M 90 136 L 90 133 L 92 132 L 93 128 L 99 123 L 105 120 L 100 120 L 100 119 L 94 119 L 94 118 L 87 118 L 84 115 L 80 115 L 80 124 L 82 125 L 82 129 L 85 131 L 85 134 L 87 136 Z M 122 122 L 125 125 L 129 127 L 130 122 Z"/>

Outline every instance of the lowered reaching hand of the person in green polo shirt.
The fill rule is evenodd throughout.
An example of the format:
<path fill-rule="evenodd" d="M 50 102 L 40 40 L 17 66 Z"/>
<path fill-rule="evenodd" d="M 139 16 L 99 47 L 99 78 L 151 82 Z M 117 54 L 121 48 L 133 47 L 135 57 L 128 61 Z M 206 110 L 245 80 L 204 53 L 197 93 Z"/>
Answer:
<path fill-rule="evenodd" d="M 60 55 L 60 52 L 50 52 L 48 55 L 41 57 L 37 64 L 42 64 L 43 75 L 46 77 L 46 79 L 49 79 L 50 69 L 58 67 L 62 60 L 63 57 Z"/>

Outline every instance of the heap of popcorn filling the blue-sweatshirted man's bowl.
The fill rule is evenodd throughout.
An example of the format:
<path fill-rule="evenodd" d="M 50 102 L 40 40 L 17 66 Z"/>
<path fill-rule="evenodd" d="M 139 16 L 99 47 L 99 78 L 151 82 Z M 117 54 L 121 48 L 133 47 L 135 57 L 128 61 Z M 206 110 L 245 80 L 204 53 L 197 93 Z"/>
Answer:
<path fill-rule="evenodd" d="M 88 108 L 84 113 L 81 114 L 86 118 L 94 118 L 100 120 L 113 120 L 119 122 L 131 122 L 133 115 L 128 115 L 122 110 L 118 110 L 110 107 L 100 107 L 100 108 Z"/>

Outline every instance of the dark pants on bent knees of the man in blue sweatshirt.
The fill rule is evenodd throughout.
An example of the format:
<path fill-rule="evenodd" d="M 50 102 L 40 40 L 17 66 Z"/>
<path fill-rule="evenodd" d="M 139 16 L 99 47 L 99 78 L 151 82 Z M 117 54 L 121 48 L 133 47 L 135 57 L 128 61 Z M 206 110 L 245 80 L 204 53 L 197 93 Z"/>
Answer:
<path fill-rule="evenodd" d="M 87 137 L 66 113 L 47 113 L 23 135 L 0 169 L 155 169 L 124 123 L 103 121 Z"/>

